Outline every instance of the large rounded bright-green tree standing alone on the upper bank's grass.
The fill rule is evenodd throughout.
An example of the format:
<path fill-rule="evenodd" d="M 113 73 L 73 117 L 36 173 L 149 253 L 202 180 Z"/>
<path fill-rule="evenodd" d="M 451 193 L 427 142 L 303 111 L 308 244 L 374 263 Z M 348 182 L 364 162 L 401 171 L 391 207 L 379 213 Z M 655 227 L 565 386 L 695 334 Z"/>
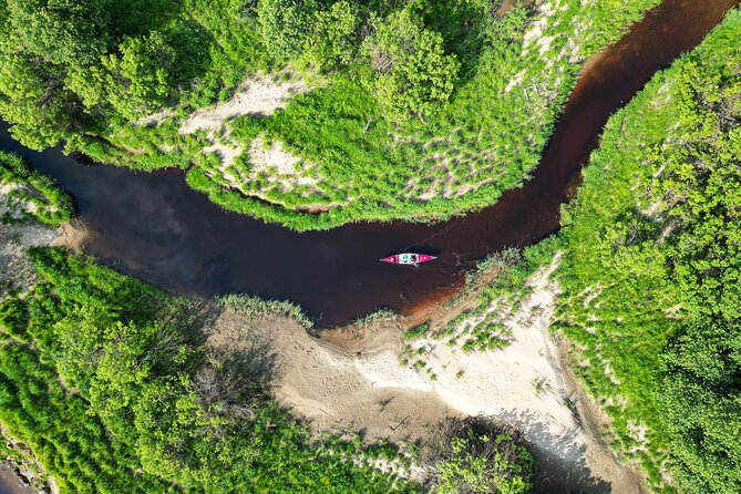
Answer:
<path fill-rule="evenodd" d="M 460 63 L 444 53 L 442 37 L 425 29 L 411 7 L 372 24 L 374 32 L 363 42 L 373 72 L 367 80 L 387 115 L 423 120 L 447 102 Z"/>

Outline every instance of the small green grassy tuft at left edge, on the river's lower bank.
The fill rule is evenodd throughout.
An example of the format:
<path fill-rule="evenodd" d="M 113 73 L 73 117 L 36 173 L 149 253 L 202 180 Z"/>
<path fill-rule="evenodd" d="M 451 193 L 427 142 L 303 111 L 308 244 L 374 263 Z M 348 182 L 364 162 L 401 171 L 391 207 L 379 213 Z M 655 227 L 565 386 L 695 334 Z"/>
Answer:
<path fill-rule="evenodd" d="M 72 197 L 18 155 L 0 152 L 0 187 L 2 222 L 35 218 L 59 226 L 74 216 Z"/>

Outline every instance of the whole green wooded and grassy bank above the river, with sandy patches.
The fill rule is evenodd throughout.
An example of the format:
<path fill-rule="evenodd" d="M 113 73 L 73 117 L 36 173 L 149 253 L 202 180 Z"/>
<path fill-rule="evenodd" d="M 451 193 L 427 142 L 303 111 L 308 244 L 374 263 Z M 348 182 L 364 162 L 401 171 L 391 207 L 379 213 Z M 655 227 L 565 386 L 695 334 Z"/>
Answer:
<path fill-rule="evenodd" d="M 657 3 L 3 0 L 0 115 L 297 229 L 443 218 L 523 183 L 584 61 Z"/>

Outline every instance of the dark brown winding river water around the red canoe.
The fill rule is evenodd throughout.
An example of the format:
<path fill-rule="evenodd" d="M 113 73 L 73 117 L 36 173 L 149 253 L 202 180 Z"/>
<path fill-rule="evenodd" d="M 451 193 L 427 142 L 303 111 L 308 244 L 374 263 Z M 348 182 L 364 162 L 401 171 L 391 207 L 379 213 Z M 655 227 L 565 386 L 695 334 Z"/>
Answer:
<path fill-rule="evenodd" d="M 608 116 L 703 35 L 738 0 L 667 0 L 595 56 L 574 90 L 534 178 L 492 207 L 439 225 L 357 224 L 297 234 L 222 210 L 182 173 L 85 166 L 59 150 L 18 151 L 74 194 L 88 253 L 169 290 L 290 299 L 321 325 L 378 307 L 409 311 L 451 292 L 476 259 L 558 228 L 559 205 Z M 573 187 L 572 187 L 573 188 Z M 439 256 L 419 269 L 378 261 L 410 248 Z"/>

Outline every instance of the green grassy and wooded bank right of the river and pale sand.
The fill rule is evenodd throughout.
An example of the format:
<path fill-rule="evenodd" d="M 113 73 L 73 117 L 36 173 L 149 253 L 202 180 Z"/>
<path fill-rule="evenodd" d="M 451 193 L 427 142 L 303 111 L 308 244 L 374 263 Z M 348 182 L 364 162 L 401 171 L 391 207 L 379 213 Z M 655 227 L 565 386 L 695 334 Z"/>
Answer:
<path fill-rule="evenodd" d="M 658 491 L 741 491 L 740 38 L 735 10 L 614 115 L 564 209 L 558 327 Z"/>

